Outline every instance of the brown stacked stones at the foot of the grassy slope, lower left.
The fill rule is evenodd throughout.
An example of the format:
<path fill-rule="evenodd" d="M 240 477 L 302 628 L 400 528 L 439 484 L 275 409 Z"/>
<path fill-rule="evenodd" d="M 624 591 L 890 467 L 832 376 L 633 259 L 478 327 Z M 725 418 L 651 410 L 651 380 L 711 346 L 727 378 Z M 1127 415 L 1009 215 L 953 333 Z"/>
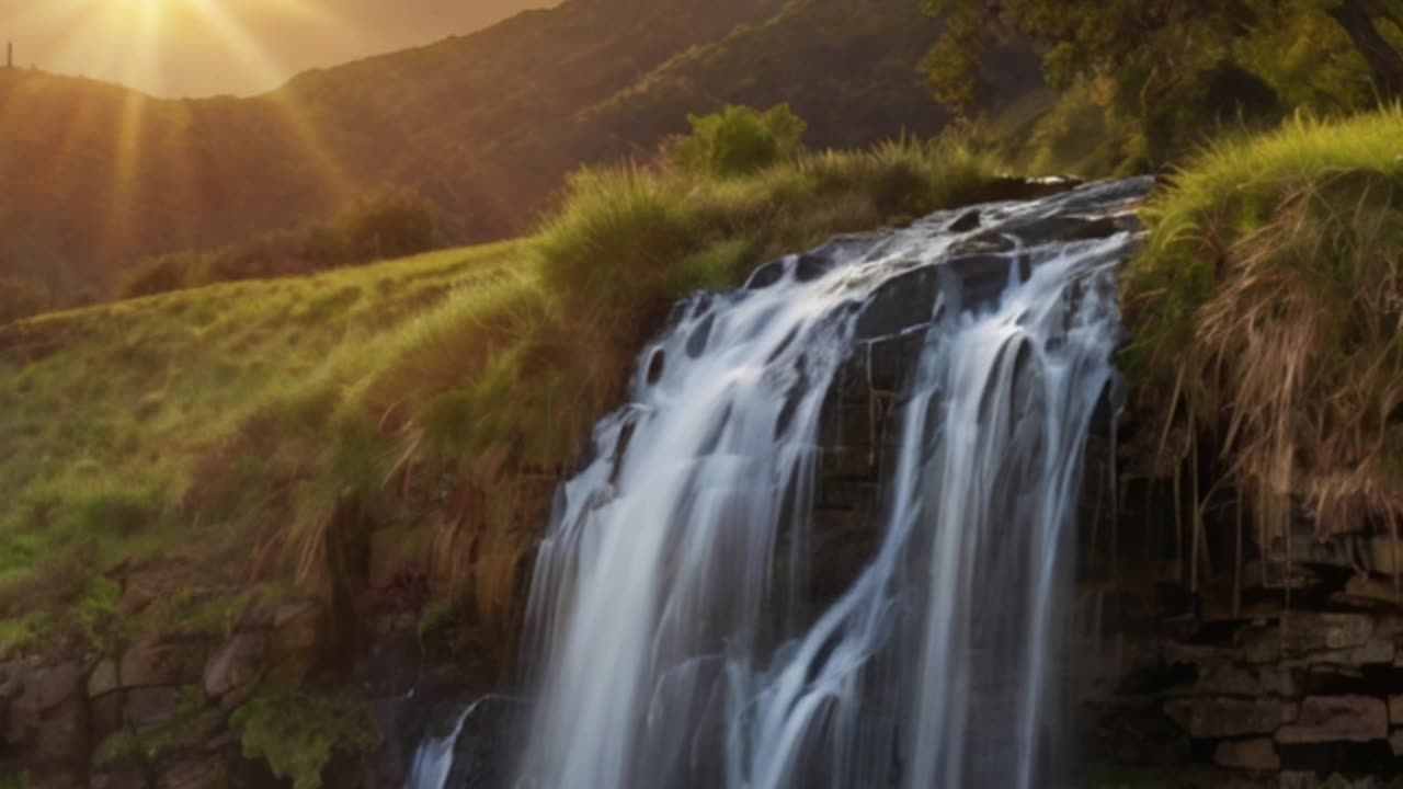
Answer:
<path fill-rule="evenodd" d="M 52 789 L 216 789 L 257 765 L 229 716 L 260 685 L 302 681 L 327 651 L 323 606 L 251 616 L 227 639 L 180 633 L 118 657 L 0 665 L 0 775 Z M 133 744 L 161 743 L 159 752 Z"/>

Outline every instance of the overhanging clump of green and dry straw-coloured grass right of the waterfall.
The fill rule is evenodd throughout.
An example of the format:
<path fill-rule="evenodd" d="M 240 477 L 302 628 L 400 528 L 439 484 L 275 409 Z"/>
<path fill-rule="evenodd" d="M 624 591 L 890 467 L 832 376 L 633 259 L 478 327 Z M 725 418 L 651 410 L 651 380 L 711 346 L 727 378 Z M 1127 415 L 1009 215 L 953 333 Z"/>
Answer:
<path fill-rule="evenodd" d="M 1261 528 L 1403 515 L 1403 110 L 1219 145 L 1146 211 L 1124 362 L 1166 462 L 1223 456 Z M 1266 533 L 1266 532 L 1264 532 Z"/>

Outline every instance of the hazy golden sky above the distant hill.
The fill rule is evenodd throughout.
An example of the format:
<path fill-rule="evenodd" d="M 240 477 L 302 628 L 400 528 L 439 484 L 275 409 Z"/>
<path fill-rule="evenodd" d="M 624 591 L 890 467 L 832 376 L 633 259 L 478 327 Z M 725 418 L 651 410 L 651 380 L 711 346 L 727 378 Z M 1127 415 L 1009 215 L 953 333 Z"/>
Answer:
<path fill-rule="evenodd" d="M 557 3 L 0 0 L 0 41 L 14 41 L 17 66 L 157 95 L 247 94 L 313 66 L 429 44 Z"/>

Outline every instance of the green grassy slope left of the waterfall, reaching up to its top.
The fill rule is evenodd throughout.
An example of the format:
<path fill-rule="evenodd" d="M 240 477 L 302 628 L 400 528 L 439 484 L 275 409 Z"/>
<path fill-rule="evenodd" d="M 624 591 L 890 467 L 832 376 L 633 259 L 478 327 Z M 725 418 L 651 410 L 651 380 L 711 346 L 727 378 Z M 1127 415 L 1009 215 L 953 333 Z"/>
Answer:
<path fill-rule="evenodd" d="M 436 588 L 508 628 L 550 487 L 676 298 L 974 201 L 993 168 L 943 140 L 724 180 L 591 170 L 522 241 L 3 329 L 0 621 L 81 625 L 118 569 L 201 601 L 344 594 L 347 548 L 427 522 Z"/>

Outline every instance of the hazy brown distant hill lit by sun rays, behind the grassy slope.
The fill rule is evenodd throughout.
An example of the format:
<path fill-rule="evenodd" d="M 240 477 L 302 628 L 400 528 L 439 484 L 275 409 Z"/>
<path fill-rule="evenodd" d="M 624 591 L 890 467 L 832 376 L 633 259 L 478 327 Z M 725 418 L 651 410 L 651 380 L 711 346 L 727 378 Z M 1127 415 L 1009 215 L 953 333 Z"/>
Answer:
<path fill-rule="evenodd" d="M 581 161 L 651 153 L 687 112 L 790 101 L 808 142 L 946 122 L 912 0 L 570 0 L 307 72 L 254 98 L 166 101 L 0 72 L 0 274 L 102 295 L 143 254 L 313 220 L 418 187 L 445 240 L 529 226 Z M 1034 70 L 1035 73 L 1035 70 Z"/>

